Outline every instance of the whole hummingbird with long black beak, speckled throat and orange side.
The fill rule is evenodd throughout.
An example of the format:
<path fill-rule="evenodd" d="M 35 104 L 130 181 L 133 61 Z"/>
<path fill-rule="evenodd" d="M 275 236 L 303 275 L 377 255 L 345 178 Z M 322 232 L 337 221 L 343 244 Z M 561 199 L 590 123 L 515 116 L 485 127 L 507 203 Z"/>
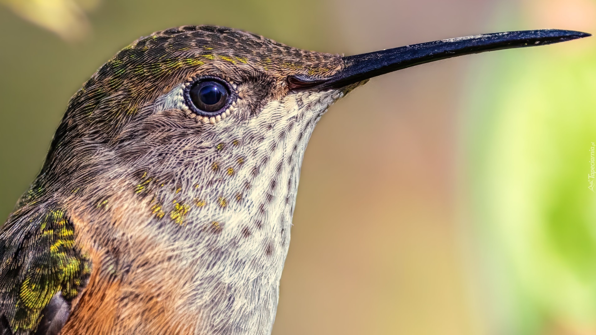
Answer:
<path fill-rule="evenodd" d="M 70 99 L 0 231 L 0 334 L 270 334 L 303 154 L 331 104 L 406 67 L 586 36 L 346 57 L 218 26 L 136 40 Z"/>

